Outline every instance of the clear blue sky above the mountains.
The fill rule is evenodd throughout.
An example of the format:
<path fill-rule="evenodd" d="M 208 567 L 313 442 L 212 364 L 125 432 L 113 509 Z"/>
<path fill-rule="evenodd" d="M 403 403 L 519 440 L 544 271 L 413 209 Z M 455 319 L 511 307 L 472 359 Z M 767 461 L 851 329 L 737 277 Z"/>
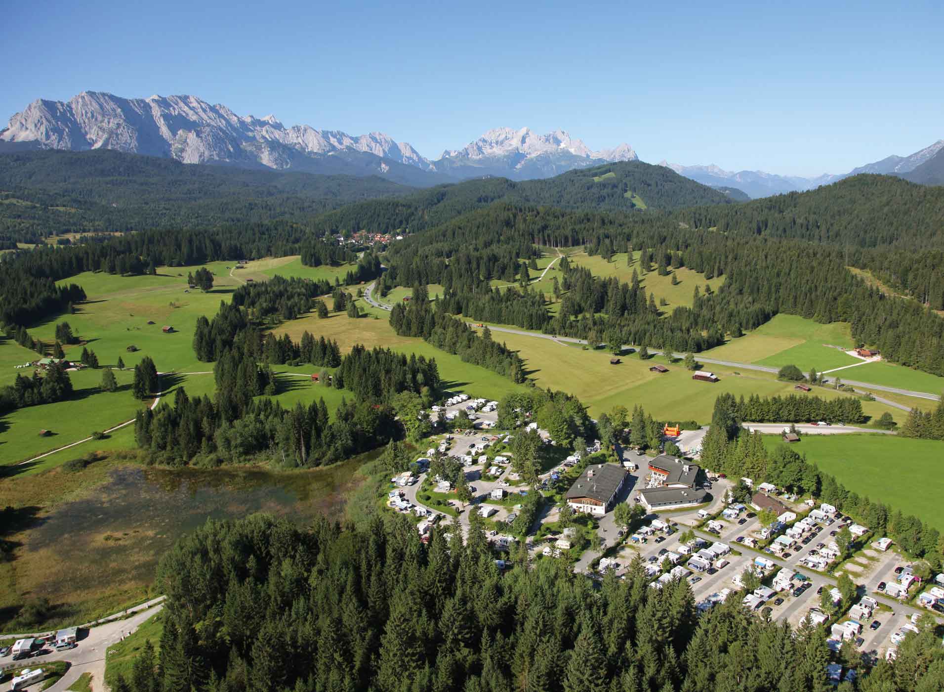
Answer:
<path fill-rule="evenodd" d="M 429 158 L 527 126 L 791 175 L 944 138 L 944 3 L 772 5 L 8 3 L 0 120 L 85 90 L 193 93 Z"/>

